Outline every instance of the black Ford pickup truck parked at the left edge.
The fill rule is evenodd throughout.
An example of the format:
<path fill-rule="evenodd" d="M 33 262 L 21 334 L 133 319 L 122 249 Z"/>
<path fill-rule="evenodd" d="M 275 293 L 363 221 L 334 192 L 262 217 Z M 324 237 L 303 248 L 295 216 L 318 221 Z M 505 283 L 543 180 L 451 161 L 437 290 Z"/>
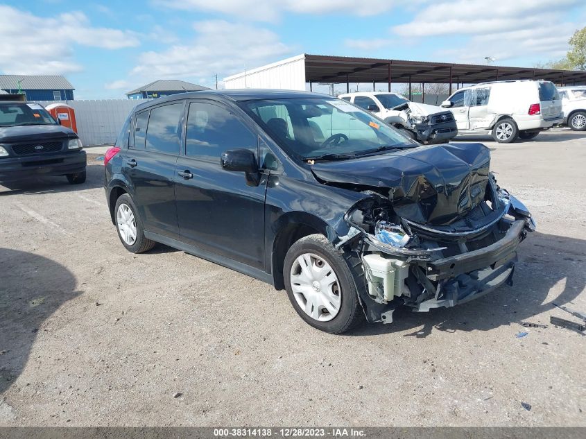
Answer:
<path fill-rule="evenodd" d="M 0 101 L 0 183 L 43 175 L 85 182 L 87 160 L 76 133 L 32 102 Z"/>

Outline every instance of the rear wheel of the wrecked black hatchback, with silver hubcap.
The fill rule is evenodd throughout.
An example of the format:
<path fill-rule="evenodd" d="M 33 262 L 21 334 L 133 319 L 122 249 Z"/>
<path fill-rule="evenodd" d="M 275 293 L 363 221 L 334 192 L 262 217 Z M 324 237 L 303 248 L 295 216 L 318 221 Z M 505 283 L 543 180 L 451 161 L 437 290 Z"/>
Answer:
<path fill-rule="evenodd" d="M 155 246 L 144 236 L 142 221 L 137 214 L 137 208 L 128 193 L 123 193 L 116 201 L 116 228 L 118 237 L 126 250 L 132 253 L 142 253 Z"/>

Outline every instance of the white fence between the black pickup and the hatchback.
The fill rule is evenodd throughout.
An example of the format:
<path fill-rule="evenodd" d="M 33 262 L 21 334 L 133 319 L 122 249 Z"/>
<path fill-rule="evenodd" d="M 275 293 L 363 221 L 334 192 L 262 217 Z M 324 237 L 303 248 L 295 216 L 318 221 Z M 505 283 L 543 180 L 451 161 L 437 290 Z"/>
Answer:
<path fill-rule="evenodd" d="M 43 106 L 66 103 L 76 112 L 78 135 L 85 146 L 113 144 L 132 109 L 147 99 L 103 101 L 40 101 Z"/>

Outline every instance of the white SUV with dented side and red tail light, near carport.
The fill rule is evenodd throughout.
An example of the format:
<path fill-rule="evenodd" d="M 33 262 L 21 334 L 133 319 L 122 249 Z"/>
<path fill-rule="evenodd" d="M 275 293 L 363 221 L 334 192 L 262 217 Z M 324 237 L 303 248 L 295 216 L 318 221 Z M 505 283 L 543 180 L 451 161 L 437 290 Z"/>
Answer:
<path fill-rule="evenodd" d="M 458 135 L 492 135 L 510 143 L 533 139 L 561 123 L 558 89 L 546 80 L 510 80 L 459 89 L 444 101 L 458 125 Z"/>

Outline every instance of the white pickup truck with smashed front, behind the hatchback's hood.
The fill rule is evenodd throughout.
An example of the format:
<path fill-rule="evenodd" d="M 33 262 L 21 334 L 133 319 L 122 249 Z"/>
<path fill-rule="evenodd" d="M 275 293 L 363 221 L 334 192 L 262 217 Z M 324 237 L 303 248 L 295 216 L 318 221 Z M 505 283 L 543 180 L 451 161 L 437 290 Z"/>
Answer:
<path fill-rule="evenodd" d="M 458 134 L 454 115 L 435 105 L 415 103 L 390 92 L 356 92 L 338 98 L 351 102 L 383 119 L 390 126 L 424 144 L 442 144 Z"/>

